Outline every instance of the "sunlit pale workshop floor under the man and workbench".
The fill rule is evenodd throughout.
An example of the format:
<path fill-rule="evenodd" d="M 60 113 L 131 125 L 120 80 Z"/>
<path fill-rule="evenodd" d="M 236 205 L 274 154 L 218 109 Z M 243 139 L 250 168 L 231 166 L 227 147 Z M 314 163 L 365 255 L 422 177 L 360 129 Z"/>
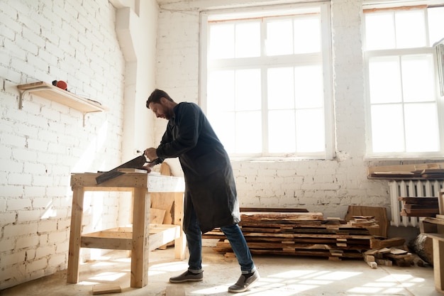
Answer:
<path fill-rule="evenodd" d="M 77 296 L 92 295 L 94 285 L 120 285 L 121 293 L 107 295 L 162 296 L 174 285 L 177 295 L 223 296 L 240 275 L 235 258 L 225 258 L 211 247 L 204 247 L 204 281 L 170 284 L 168 279 L 187 269 L 187 260 L 174 259 L 174 248 L 150 253 L 148 285 L 130 287 L 130 259 L 126 251 L 111 251 L 100 260 L 81 265 L 79 283 L 66 283 L 66 270 L 0 291 L 1 296 Z M 433 268 L 378 266 L 372 269 L 363 260 L 328 261 L 327 258 L 254 256 L 260 280 L 249 296 L 319 296 L 319 295 L 409 295 L 442 296 L 435 290 Z M 169 288 L 170 289 L 170 288 Z M 182 292 L 183 292 L 182 290 Z M 170 290 L 169 290 L 170 291 Z M 169 292 L 170 294 L 170 292 Z M 174 295 L 174 296 L 177 296 Z M 234 294 L 235 295 L 235 294 Z M 170 296 L 170 295 L 169 295 Z"/>

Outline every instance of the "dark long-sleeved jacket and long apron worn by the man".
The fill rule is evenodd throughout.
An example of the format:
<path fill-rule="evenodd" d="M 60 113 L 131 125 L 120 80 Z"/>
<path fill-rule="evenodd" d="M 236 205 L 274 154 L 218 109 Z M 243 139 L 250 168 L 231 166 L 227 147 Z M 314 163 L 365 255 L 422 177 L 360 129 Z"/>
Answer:
<path fill-rule="evenodd" d="M 185 179 L 184 231 L 194 207 L 202 233 L 240 221 L 230 159 L 204 112 L 194 103 L 174 106 L 157 148 L 159 158 L 178 157 Z"/>

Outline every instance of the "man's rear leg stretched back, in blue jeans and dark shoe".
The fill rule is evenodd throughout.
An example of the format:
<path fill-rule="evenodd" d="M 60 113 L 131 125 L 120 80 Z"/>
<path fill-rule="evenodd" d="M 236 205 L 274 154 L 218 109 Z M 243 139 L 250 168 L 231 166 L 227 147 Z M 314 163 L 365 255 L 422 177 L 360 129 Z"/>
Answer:
<path fill-rule="evenodd" d="M 231 226 L 223 226 L 221 230 L 230 241 L 231 248 L 238 259 L 240 265 L 241 275 L 237 283 L 228 288 L 229 292 L 244 292 L 248 286 L 259 280 L 260 275 L 256 270 L 255 263 L 252 261 L 250 248 L 247 246 L 247 241 L 240 230 L 238 224 Z"/>

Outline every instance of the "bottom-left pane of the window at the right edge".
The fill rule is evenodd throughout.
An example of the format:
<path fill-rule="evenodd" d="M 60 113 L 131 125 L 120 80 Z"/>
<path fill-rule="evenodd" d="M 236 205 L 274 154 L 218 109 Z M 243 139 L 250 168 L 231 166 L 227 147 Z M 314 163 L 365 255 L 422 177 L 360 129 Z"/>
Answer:
<path fill-rule="evenodd" d="M 404 119 L 401 104 L 372 106 L 373 152 L 404 151 Z"/>

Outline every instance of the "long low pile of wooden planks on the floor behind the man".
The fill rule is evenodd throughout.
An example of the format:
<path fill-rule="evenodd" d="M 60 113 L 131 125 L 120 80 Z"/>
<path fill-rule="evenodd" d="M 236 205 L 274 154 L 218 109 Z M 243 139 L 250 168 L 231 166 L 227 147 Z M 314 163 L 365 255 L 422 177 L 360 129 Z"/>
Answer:
<path fill-rule="evenodd" d="M 362 258 L 374 238 L 369 229 L 379 228 L 374 216 L 323 219 L 322 213 L 306 209 L 241 209 L 240 216 L 239 225 L 253 254 Z M 203 238 L 218 239 L 213 250 L 234 256 L 220 229 Z"/>

